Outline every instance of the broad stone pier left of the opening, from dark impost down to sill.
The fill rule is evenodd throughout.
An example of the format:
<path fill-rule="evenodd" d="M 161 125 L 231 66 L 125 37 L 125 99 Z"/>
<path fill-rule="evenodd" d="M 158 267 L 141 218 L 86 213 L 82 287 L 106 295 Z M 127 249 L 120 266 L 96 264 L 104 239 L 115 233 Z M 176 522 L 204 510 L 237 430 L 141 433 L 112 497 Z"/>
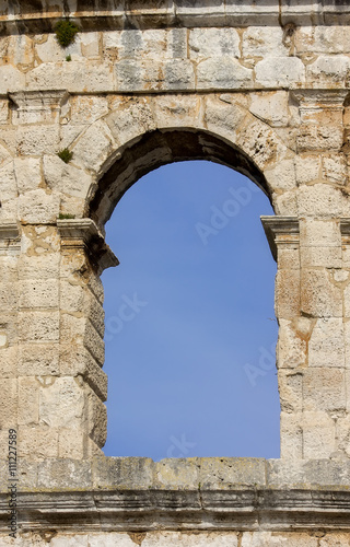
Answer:
<path fill-rule="evenodd" d="M 90 219 L 23 225 L 21 254 L 16 224 L 0 226 L 4 450 L 13 428 L 26 461 L 102 454 L 107 379 L 100 274 L 116 264 Z"/>

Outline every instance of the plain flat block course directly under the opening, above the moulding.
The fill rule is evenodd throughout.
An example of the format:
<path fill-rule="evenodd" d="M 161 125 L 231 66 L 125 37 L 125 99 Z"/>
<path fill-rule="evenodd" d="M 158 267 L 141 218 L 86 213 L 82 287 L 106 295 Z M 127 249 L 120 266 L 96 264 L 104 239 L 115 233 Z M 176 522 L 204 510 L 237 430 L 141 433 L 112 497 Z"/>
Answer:
<path fill-rule="evenodd" d="M 8 487 L 7 461 L 0 461 L 0 492 Z M 168 458 L 94 457 L 19 458 L 19 491 L 231 491 L 343 490 L 350 492 L 350 461 L 264 459 L 245 457 Z"/>

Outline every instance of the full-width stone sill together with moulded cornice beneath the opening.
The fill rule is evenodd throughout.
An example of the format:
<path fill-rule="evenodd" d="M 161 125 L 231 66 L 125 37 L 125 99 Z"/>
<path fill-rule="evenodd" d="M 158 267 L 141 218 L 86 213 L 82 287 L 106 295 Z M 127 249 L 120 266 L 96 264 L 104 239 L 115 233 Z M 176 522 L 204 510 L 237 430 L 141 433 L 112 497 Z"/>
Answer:
<path fill-rule="evenodd" d="M 22 533 L 350 529 L 349 461 L 96 457 L 19 469 Z"/>

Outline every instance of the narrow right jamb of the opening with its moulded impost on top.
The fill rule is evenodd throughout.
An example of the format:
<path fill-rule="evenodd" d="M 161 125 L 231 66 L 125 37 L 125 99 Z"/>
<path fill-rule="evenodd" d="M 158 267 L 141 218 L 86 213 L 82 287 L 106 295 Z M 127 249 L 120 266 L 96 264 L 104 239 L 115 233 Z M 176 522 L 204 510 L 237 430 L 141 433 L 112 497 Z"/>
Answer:
<path fill-rule="evenodd" d="M 275 310 L 279 324 L 278 385 L 281 401 L 281 457 L 303 457 L 303 372 L 307 366 L 308 319 L 301 316 L 299 220 L 262 217 L 278 263 Z"/>

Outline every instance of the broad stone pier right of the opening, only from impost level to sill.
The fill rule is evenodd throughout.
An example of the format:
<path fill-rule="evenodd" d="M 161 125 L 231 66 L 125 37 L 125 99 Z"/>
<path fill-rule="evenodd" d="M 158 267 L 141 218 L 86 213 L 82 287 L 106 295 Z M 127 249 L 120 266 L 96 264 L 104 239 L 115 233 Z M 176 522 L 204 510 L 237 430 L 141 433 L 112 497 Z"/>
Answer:
<path fill-rule="evenodd" d="M 281 457 L 349 457 L 350 220 L 262 222 L 278 260 Z"/>

